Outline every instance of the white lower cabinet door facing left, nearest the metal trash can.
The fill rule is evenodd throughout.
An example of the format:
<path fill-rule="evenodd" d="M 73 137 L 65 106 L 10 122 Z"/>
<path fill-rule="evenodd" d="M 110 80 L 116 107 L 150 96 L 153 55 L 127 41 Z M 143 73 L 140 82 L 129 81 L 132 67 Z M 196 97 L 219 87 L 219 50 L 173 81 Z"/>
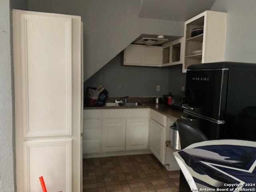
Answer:
<path fill-rule="evenodd" d="M 158 158 L 158 160 L 165 164 L 165 127 L 158 122 L 150 119 L 149 127 L 149 149 Z"/>

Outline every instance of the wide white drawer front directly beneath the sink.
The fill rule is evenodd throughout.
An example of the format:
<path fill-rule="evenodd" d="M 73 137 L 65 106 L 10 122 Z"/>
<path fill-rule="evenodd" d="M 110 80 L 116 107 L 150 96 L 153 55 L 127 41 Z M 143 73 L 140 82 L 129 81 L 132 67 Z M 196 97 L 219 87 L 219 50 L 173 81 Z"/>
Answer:
<path fill-rule="evenodd" d="M 148 117 L 149 109 L 106 109 L 102 110 L 102 118 Z"/>

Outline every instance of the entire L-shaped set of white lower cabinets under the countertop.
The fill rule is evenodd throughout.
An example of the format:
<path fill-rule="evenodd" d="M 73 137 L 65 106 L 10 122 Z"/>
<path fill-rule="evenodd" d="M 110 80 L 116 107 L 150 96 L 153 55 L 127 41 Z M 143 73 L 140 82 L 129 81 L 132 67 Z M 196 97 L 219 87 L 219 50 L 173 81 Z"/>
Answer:
<path fill-rule="evenodd" d="M 154 154 L 167 170 L 178 170 L 171 149 L 170 126 L 175 118 L 167 118 L 149 108 L 84 110 L 83 156 L 104 157 L 120 154 Z"/>

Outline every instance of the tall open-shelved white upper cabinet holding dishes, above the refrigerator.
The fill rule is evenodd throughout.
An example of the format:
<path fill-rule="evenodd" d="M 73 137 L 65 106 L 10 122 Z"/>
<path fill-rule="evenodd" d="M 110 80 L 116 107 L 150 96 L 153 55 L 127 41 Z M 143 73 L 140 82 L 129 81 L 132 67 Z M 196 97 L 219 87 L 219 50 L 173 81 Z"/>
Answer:
<path fill-rule="evenodd" d="M 224 12 L 205 11 L 185 22 L 182 72 L 192 64 L 224 61 L 226 20 Z M 192 35 L 196 28 L 203 28 L 203 33 Z"/>

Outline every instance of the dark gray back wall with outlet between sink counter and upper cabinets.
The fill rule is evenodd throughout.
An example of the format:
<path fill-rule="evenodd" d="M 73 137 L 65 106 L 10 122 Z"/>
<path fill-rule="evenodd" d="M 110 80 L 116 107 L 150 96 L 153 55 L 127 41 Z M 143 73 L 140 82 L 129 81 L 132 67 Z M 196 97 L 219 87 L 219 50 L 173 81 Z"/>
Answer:
<path fill-rule="evenodd" d="M 168 93 L 168 73 L 168 68 L 124 66 L 121 52 L 86 80 L 84 86 L 102 84 L 109 96 L 162 96 Z M 160 91 L 156 91 L 157 85 Z"/>

